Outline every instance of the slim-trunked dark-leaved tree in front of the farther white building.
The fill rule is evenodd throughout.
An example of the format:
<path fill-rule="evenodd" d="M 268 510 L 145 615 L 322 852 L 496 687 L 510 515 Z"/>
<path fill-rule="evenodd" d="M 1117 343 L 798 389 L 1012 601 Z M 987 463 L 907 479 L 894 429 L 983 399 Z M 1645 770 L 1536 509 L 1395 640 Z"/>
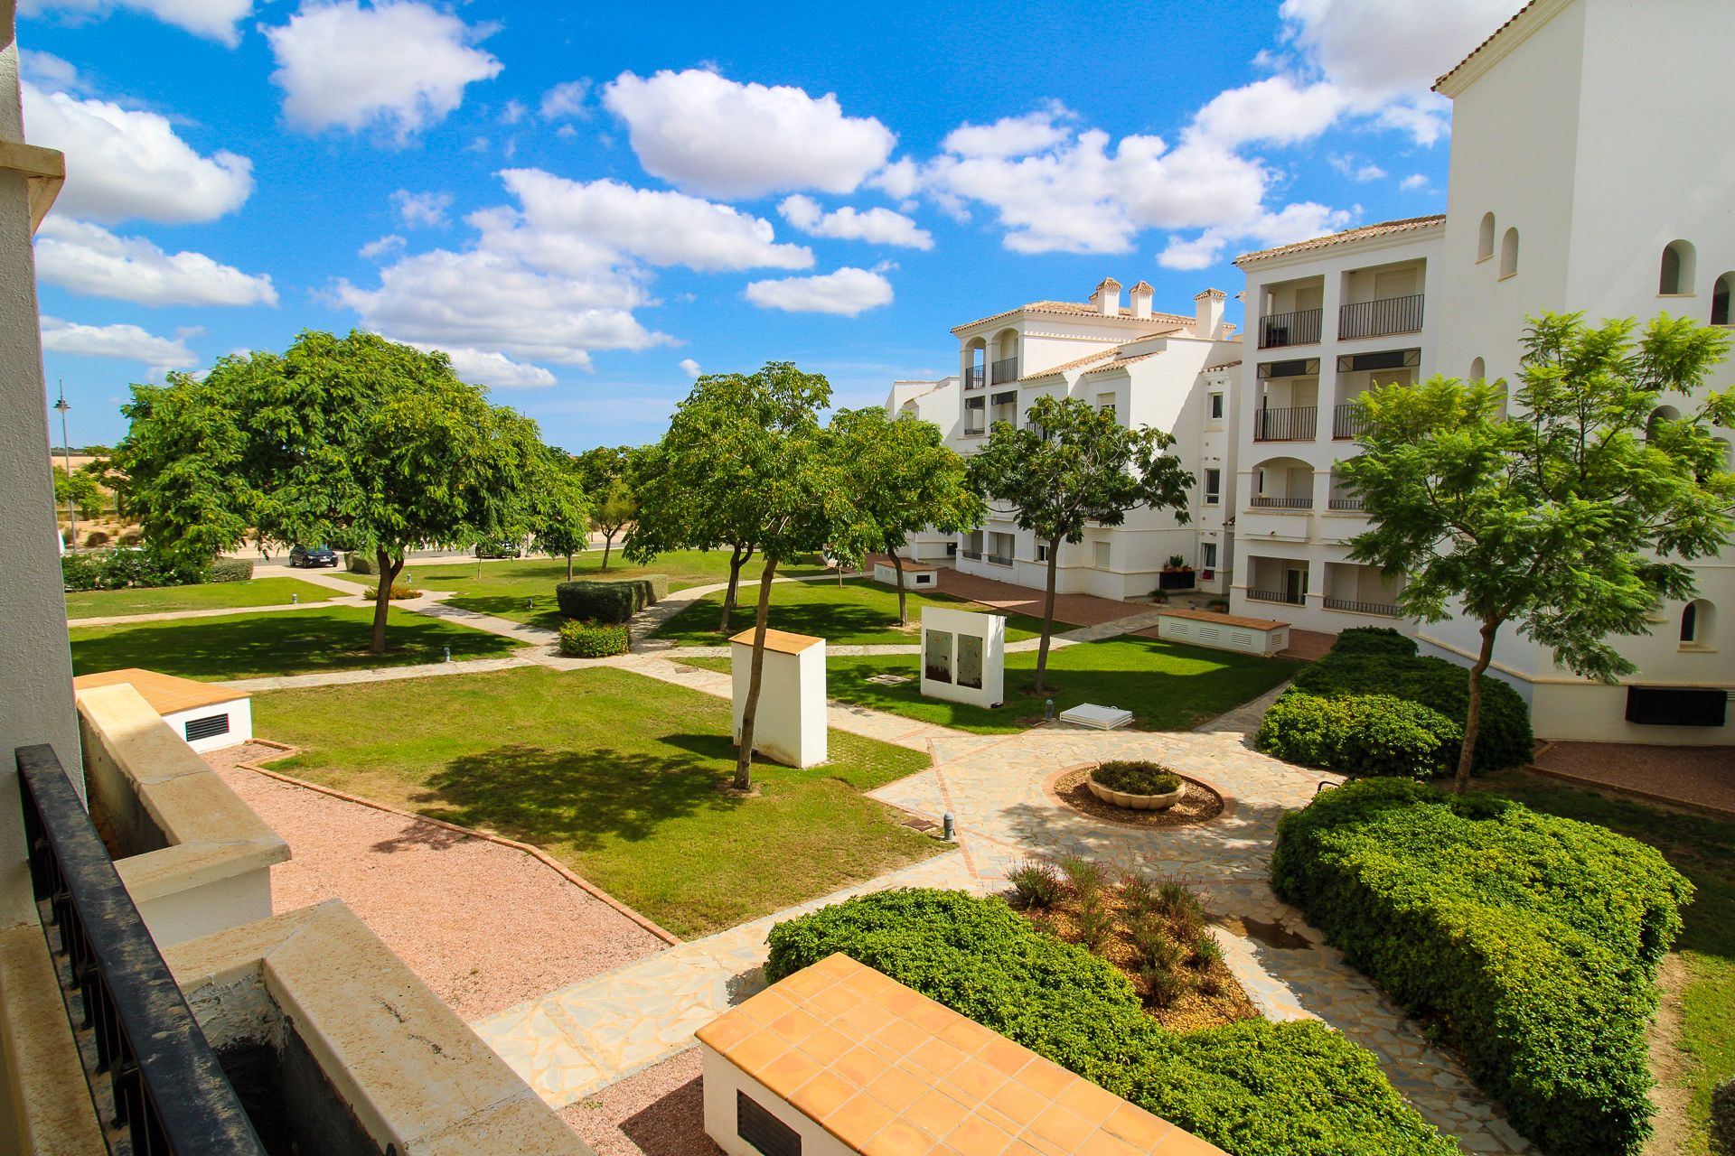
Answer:
<path fill-rule="evenodd" d="M 1046 690 L 1048 643 L 1055 626 L 1055 577 L 1060 542 L 1084 541 L 1084 525 L 1121 525 L 1138 506 L 1173 510 L 1187 522 L 1194 477 L 1164 454 L 1175 437 L 1116 421 L 1076 397 L 1038 397 L 1022 428 L 996 421 L 987 445 L 970 459 L 970 480 L 991 499 L 1012 506 L 1020 530 L 1048 546 L 1048 593 L 1043 641 L 1036 652 L 1036 686 Z"/>

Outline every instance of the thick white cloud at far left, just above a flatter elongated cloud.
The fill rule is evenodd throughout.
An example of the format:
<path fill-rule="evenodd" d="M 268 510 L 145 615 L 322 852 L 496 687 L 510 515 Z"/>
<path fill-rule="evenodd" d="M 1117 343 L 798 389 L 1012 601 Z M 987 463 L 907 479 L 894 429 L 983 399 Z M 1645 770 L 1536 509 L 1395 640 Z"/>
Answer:
<path fill-rule="evenodd" d="M 113 224 L 215 220 L 253 192 L 253 163 L 219 151 L 201 156 L 167 116 L 82 101 L 23 85 L 24 132 L 31 144 L 66 154 L 66 187 L 56 208 Z"/>

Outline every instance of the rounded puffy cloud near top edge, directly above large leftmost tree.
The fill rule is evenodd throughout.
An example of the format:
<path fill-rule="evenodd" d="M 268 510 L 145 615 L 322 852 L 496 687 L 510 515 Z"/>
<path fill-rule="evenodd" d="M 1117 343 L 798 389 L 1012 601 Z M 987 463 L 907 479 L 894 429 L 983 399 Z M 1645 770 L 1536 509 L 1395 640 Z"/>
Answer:
<path fill-rule="evenodd" d="M 283 116 L 305 132 L 376 125 L 404 140 L 446 120 L 467 85 L 501 69 L 475 47 L 489 29 L 416 0 L 305 0 L 288 24 L 264 31 Z"/>

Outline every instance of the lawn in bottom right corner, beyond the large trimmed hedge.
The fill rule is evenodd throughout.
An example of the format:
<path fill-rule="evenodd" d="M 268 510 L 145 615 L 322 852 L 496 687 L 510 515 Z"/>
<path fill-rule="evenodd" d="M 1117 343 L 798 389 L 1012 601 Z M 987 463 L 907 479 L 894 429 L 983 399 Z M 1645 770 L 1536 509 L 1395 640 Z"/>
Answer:
<path fill-rule="evenodd" d="M 1529 771 L 1492 775 L 1476 787 L 1648 842 L 1693 880 L 1697 893 L 1683 912 L 1686 927 L 1674 950 L 1686 969 L 1681 1047 L 1688 1059 L 1683 1087 L 1692 1092 L 1693 1137 L 1685 1153 L 1704 1154 L 1711 1088 L 1735 1073 L 1735 822 L 1581 790 Z"/>

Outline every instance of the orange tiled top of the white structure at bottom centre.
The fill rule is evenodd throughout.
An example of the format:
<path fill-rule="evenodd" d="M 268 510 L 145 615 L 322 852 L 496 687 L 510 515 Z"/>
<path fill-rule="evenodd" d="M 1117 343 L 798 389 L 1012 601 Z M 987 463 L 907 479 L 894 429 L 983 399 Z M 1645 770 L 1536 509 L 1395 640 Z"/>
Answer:
<path fill-rule="evenodd" d="M 697 1036 L 855 1153 L 1221 1156 L 843 953 Z"/>

